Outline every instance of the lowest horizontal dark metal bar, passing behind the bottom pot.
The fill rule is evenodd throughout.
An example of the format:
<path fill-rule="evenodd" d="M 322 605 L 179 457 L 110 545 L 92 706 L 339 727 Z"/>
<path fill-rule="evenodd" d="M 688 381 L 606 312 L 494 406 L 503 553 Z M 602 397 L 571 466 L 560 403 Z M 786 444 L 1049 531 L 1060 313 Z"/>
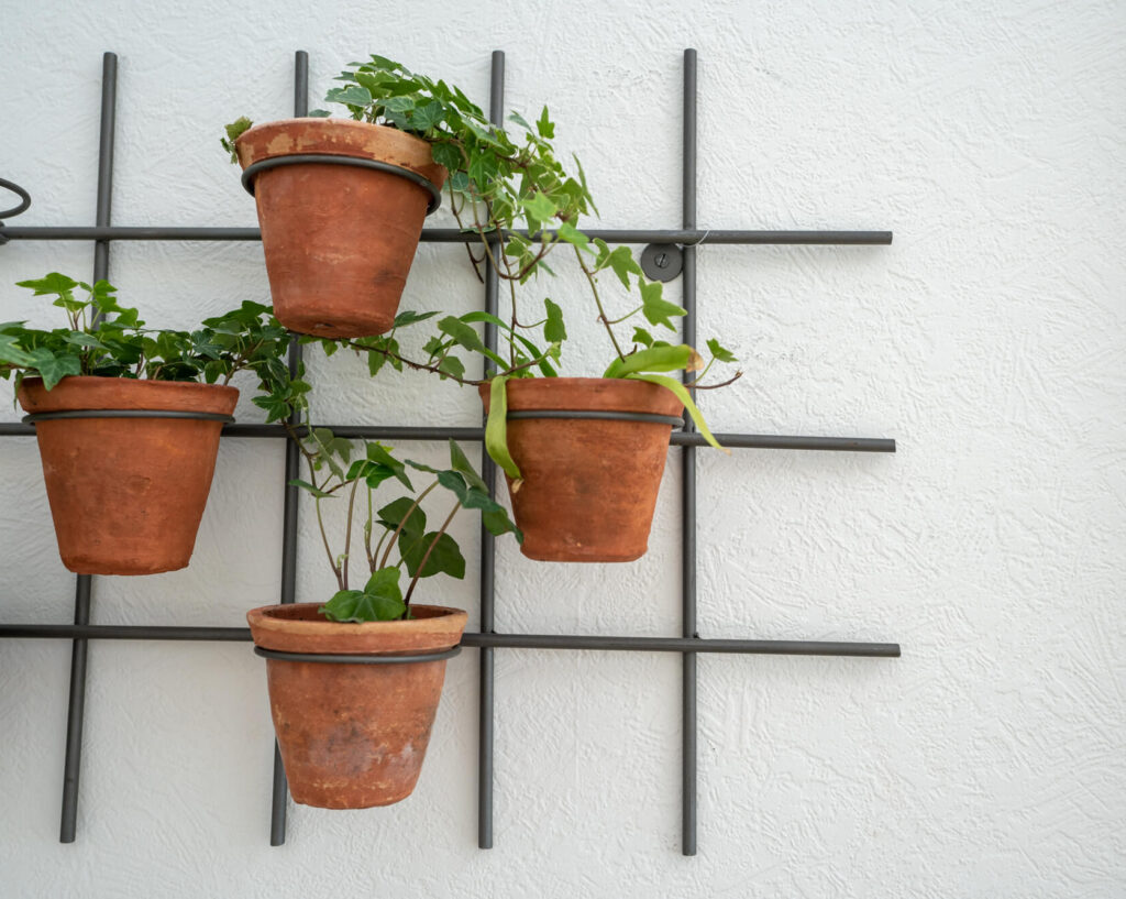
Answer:
<path fill-rule="evenodd" d="M 186 627 L 137 624 L 0 624 L 0 638 L 91 640 L 218 640 L 248 642 L 249 627 Z M 636 652 L 718 652 L 769 656 L 899 658 L 899 643 L 822 640 L 704 640 L 698 637 L 593 637 L 584 634 L 465 633 L 463 647 L 592 649 Z"/>

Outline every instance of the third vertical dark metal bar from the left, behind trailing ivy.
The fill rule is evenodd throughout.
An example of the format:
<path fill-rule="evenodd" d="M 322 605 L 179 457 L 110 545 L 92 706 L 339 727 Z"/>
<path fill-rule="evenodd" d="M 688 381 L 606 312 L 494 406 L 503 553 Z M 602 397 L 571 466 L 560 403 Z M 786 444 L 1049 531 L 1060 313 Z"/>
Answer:
<path fill-rule="evenodd" d="M 501 124 L 504 121 L 504 53 L 494 50 L 492 72 L 489 81 L 489 121 Z M 500 279 L 492 262 L 485 259 L 485 312 L 497 314 Z M 485 322 L 485 346 L 497 349 L 497 326 Z M 493 372 L 493 365 L 485 361 L 485 377 Z M 489 484 L 490 496 L 495 492 L 497 466 L 482 452 L 481 473 Z M 497 543 L 492 534 L 481 526 L 481 632 L 492 633 L 493 595 L 497 584 Z M 493 701 L 495 659 L 492 647 L 481 648 L 481 705 L 477 721 L 477 846 L 492 848 L 493 804 Z"/>

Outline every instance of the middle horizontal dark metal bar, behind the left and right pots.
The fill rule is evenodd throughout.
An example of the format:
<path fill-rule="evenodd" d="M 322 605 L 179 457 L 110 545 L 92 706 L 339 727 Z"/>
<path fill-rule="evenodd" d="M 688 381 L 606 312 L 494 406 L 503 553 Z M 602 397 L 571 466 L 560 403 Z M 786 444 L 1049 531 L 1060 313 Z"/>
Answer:
<path fill-rule="evenodd" d="M 338 437 L 369 440 L 467 440 L 484 439 L 484 428 L 395 427 L 391 425 L 331 425 Z M 30 425 L 0 424 L 0 437 L 32 437 Z M 224 437 L 285 437 L 280 425 L 227 425 Z M 894 453 L 895 440 L 886 437 L 801 437 L 779 434 L 716 434 L 715 438 L 733 450 L 826 450 L 843 453 Z M 705 446 L 699 434 L 672 431 L 673 446 Z"/>

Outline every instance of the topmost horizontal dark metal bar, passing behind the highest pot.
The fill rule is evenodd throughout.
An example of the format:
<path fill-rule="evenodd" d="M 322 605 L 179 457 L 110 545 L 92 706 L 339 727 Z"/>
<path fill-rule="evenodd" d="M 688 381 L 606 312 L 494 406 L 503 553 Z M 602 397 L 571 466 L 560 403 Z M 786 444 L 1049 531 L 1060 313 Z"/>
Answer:
<path fill-rule="evenodd" d="M 527 231 L 515 233 L 531 237 Z M 707 229 L 592 229 L 584 231 L 591 240 L 607 243 L 798 243 L 884 246 L 892 242 L 891 231 L 740 231 Z M 5 240 L 261 240 L 257 228 L 134 228 L 128 225 L 70 226 L 12 225 L 0 228 Z M 422 241 L 429 243 L 472 243 L 480 240 L 473 232 L 457 228 L 425 228 Z"/>

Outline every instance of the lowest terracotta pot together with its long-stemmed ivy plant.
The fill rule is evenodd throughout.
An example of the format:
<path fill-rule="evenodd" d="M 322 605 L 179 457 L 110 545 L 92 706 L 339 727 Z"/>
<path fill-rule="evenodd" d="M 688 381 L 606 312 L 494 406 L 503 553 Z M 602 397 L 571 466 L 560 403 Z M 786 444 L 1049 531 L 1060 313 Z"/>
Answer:
<path fill-rule="evenodd" d="M 271 420 L 285 422 L 304 395 L 275 384 L 256 402 Z M 521 535 L 453 440 L 449 468 L 439 470 L 400 461 L 379 443 L 366 443 L 354 455 L 351 442 L 328 428 L 306 425 L 298 433 L 286 427 L 309 465 L 310 480 L 292 483 L 313 498 L 337 585 L 324 604 L 265 606 L 247 614 L 256 652 L 267 659 L 289 792 L 295 802 L 327 809 L 390 805 L 410 795 L 418 782 L 446 659 L 457 652 L 466 621 L 462 609 L 413 603 L 415 588 L 437 575 L 465 577 L 465 559 L 448 531 L 458 510 L 477 509 L 495 535 Z M 434 481 L 415 492 L 408 468 Z M 378 506 L 374 495 L 385 482 L 406 492 Z M 454 502 L 432 528 L 422 500 L 439 487 L 454 495 Z M 339 553 L 322 515 L 328 501 L 347 504 Z M 358 579 L 357 570 L 363 572 Z M 363 587 L 357 589 L 354 579 Z"/>

